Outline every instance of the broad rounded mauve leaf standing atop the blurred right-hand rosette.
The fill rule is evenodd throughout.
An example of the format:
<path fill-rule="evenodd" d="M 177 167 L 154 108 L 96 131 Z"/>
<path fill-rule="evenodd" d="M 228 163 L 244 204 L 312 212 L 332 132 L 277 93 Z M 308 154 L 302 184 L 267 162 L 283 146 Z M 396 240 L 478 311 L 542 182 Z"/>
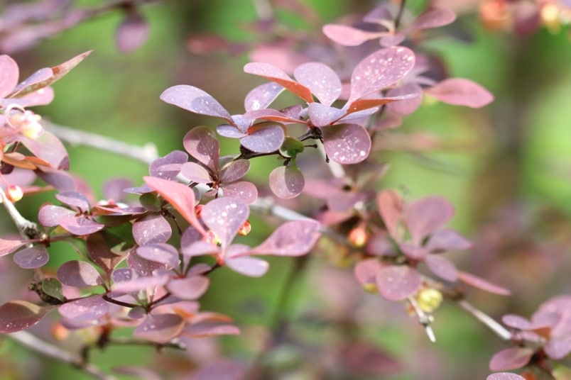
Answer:
<path fill-rule="evenodd" d="M 440 196 L 428 196 L 410 203 L 404 220 L 413 244 L 420 245 L 424 238 L 442 227 L 453 215 L 452 204 Z"/>

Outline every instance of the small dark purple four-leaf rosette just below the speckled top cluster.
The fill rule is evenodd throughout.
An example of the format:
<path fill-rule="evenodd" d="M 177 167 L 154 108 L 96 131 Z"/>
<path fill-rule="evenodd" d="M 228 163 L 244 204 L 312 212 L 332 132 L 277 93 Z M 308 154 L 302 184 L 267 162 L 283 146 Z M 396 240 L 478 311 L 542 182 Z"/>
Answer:
<path fill-rule="evenodd" d="M 180 170 L 185 178 L 197 184 L 207 184 L 211 190 L 207 196 L 233 196 L 246 203 L 258 197 L 256 186 L 239 181 L 250 168 L 250 162 L 232 157 L 220 157 L 220 145 L 214 131 L 204 126 L 192 128 L 183 140 L 187 152 L 197 162 L 186 162 Z"/>

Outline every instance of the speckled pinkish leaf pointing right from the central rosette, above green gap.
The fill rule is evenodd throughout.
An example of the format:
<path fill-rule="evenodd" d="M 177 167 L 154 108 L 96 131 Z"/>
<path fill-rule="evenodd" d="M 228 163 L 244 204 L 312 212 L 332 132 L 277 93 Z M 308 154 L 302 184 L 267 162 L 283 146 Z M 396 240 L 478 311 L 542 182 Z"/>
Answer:
<path fill-rule="evenodd" d="M 316 220 L 293 220 L 283 223 L 251 254 L 301 256 L 308 253 L 320 238 L 320 223 Z"/>

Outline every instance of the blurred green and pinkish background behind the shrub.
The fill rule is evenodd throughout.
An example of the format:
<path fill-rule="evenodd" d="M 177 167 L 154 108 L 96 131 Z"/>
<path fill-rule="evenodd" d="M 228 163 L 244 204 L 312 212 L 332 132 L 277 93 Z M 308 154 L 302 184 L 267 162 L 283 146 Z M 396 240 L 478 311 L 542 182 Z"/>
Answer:
<path fill-rule="evenodd" d="M 0 15 L 15 2 L 0 0 Z M 104 1 L 71 3 L 92 7 Z M 40 67 L 94 50 L 54 84 L 53 103 L 36 111 L 50 122 L 77 130 L 134 145 L 152 142 L 165 155 L 183 149 L 182 138 L 189 128 L 214 127 L 217 121 L 164 104 L 158 96 L 169 86 L 192 84 L 212 94 L 231 113 L 241 113 L 244 95 L 261 83 L 242 67 L 249 62 L 252 46 L 260 40 L 268 42 L 268 36 L 256 33 L 253 24 L 259 21 L 260 7 L 270 3 L 276 5 L 283 30 L 318 38 L 323 38 L 320 27 L 324 23 L 350 21 L 377 5 L 370 0 L 300 1 L 314 12 L 315 18 L 308 21 L 300 18 L 301 13 L 280 7 L 294 1 L 152 1 L 140 8 L 148 22 L 148 40 L 133 52 L 117 49 L 116 28 L 123 14 L 112 11 L 9 54 L 24 78 Z M 427 3 L 409 1 L 413 13 Z M 457 6 L 454 1 L 441 3 Z M 529 316 L 547 298 L 571 292 L 569 28 L 540 28 L 526 36 L 491 30 L 479 16 L 482 4 L 463 3 L 456 23 L 434 33 L 424 49 L 442 58 L 450 76 L 482 84 L 496 100 L 479 110 L 425 101 L 401 128 L 378 139 L 379 159 L 390 164 L 379 189 L 396 187 L 410 199 L 430 194 L 450 199 L 457 210 L 452 227 L 474 241 L 473 250 L 450 257 L 458 267 L 513 291 L 511 297 L 469 291 L 469 299 L 496 318 L 504 313 Z M 221 35 L 236 45 L 231 52 L 197 54 L 193 38 L 205 33 Z M 141 184 L 141 177 L 148 173 L 141 162 L 120 155 L 82 145 L 67 149 L 70 171 L 85 178 L 99 196 L 104 183 L 113 177 Z M 235 142 L 223 145 L 226 153 L 235 149 Z M 254 162 L 250 178 L 266 186 L 265 178 L 275 164 L 272 160 Z M 53 201 L 53 194 L 30 196 L 18 208 L 36 220 L 38 207 L 46 201 Z M 252 240 L 270 232 L 271 226 L 261 218 L 254 216 L 251 223 Z M 4 213 L 0 228 L 13 232 Z M 51 247 L 50 255 L 51 268 L 75 258 L 69 247 L 58 244 Z M 452 305 L 435 313 L 437 342 L 430 343 L 403 306 L 361 291 L 349 267 L 326 254 L 309 260 L 283 309 L 288 338 L 279 340 L 263 357 L 276 368 L 271 379 L 485 379 L 489 358 L 504 347 Z M 1 301 L 18 298 L 23 290 L 16 284 L 24 289 L 30 275 L 18 272 L 11 257 L 1 257 L 0 267 Z M 240 336 L 216 342 L 196 340 L 190 342 L 187 353 L 109 347 L 104 352 L 94 350 L 92 359 L 103 369 L 119 364 L 151 365 L 165 379 L 188 379 L 192 366 L 219 355 L 248 365 L 276 328 L 273 313 L 288 274 L 295 270 L 295 262 L 284 258 L 271 260 L 270 272 L 261 279 L 214 272 L 202 309 L 231 315 L 242 330 Z M 41 323 L 34 332 L 54 341 L 49 323 Z M 370 347 L 353 347 L 346 352 L 349 364 L 339 364 L 339 347 L 347 337 L 359 337 Z M 74 339 L 58 344 L 75 350 L 77 341 L 88 337 Z M 371 347 L 383 354 L 370 354 Z M 310 360 L 308 351 L 312 352 Z M 339 369 L 330 377 L 320 372 L 336 366 Z M 45 361 L 9 337 L 0 337 L 0 379 L 89 377 Z"/>

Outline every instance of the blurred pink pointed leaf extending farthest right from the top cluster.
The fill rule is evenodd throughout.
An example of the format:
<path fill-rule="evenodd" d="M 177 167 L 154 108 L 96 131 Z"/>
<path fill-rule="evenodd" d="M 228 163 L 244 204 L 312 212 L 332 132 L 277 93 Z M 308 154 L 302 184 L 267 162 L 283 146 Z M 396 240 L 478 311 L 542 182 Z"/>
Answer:
<path fill-rule="evenodd" d="M 479 84 L 464 78 L 449 78 L 425 89 L 427 94 L 447 104 L 480 108 L 494 101 L 494 96 Z"/>

